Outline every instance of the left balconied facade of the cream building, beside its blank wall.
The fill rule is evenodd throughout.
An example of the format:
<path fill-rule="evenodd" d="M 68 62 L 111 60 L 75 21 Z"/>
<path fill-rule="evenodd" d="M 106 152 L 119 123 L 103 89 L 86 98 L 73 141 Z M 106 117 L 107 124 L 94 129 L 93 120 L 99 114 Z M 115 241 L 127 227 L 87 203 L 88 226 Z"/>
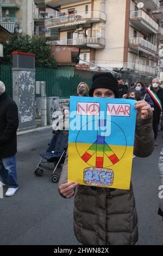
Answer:
<path fill-rule="evenodd" d="M 59 29 L 58 45 L 76 45 L 80 58 L 95 62 L 96 50 L 105 47 L 105 1 L 47 1 L 58 17 L 45 21 L 45 27 Z"/>

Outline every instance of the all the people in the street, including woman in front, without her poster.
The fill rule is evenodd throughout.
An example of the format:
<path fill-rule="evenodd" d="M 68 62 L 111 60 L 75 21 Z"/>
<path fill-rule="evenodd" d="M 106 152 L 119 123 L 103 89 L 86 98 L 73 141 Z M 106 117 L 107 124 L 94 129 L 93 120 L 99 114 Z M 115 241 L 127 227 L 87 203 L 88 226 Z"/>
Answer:
<path fill-rule="evenodd" d="M 89 89 L 85 82 L 79 84 L 77 96 L 106 97 L 136 100 L 137 110 L 134 155 L 148 157 L 152 154 L 158 135 L 163 106 L 163 89 L 158 78 L 150 87 L 135 82 L 128 87 L 122 78 L 111 73 L 97 73 Z M 0 186 L 8 186 L 6 196 L 18 189 L 16 174 L 16 131 L 18 109 L 5 92 L 0 81 Z M 163 151 L 162 151 L 163 152 Z M 161 153 L 163 154 L 163 153 Z M 163 157 L 159 168 L 162 180 Z M 135 245 L 138 240 L 137 212 L 133 186 L 130 190 L 83 186 L 68 182 L 68 153 L 62 168 L 59 193 L 64 198 L 74 198 L 74 234 L 82 245 Z M 161 202 L 162 204 L 162 202 Z M 159 215 L 163 216 L 160 206 Z"/>

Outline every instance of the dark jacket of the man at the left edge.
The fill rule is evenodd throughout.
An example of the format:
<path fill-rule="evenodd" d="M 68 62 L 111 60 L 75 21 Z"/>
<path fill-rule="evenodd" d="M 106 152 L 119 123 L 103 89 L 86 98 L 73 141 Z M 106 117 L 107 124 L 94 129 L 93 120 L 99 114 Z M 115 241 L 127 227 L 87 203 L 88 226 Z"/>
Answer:
<path fill-rule="evenodd" d="M 0 158 L 14 156 L 17 152 L 16 131 L 18 110 L 16 103 L 3 93 L 0 95 Z"/>

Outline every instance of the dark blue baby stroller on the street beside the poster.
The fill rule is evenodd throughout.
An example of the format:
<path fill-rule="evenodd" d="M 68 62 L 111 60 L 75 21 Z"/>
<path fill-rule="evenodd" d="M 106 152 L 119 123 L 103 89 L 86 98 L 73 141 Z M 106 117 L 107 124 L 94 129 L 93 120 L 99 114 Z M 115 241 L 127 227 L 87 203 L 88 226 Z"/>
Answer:
<path fill-rule="evenodd" d="M 67 147 L 68 147 L 68 131 L 53 131 L 54 135 L 52 137 L 52 141 L 49 144 L 49 147 L 45 153 L 41 153 L 40 156 L 41 161 L 37 165 L 35 170 L 36 176 L 43 175 L 43 169 L 52 170 L 52 181 L 58 182 L 60 175 L 55 173 L 55 170 L 59 166 L 59 164 L 64 163 Z M 44 161 L 46 160 L 46 161 Z M 54 163 L 54 167 L 48 167 L 45 164 L 47 163 Z M 42 169 L 43 168 L 43 169 Z"/>

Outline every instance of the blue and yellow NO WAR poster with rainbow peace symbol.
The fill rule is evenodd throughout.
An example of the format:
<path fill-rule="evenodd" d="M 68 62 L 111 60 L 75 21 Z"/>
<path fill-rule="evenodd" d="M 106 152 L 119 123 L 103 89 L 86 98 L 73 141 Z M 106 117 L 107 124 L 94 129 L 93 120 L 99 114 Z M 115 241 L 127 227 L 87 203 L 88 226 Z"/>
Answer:
<path fill-rule="evenodd" d="M 70 99 L 68 181 L 129 190 L 136 109 L 134 100 Z"/>

